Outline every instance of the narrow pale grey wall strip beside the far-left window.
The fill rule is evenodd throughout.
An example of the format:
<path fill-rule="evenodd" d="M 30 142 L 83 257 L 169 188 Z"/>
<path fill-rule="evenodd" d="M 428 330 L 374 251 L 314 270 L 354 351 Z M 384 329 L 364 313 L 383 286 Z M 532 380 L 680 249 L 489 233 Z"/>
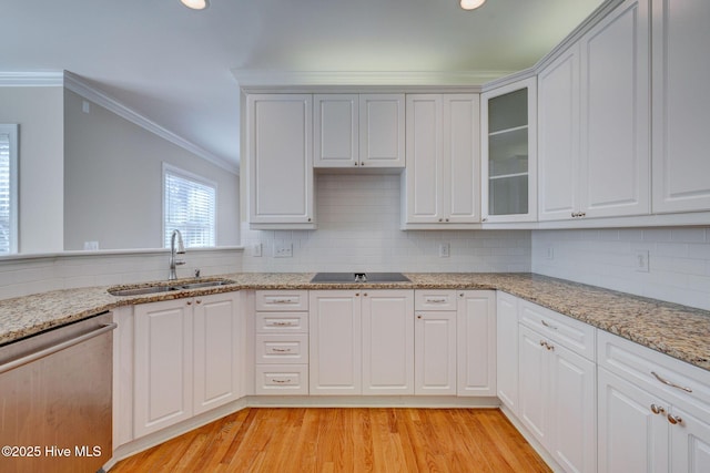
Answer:
<path fill-rule="evenodd" d="M 19 251 L 63 249 L 63 92 L 0 86 L 0 123 L 18 123 Z"/>

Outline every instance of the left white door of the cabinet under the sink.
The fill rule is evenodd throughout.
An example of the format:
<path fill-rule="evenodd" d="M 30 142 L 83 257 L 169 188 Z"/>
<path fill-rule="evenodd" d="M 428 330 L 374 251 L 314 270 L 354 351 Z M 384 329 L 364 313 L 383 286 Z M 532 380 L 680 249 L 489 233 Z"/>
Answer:
<path fill-rule="evenodd" d="M 191 299 L 135 306 L 135 438 L 192 417 Z"/>

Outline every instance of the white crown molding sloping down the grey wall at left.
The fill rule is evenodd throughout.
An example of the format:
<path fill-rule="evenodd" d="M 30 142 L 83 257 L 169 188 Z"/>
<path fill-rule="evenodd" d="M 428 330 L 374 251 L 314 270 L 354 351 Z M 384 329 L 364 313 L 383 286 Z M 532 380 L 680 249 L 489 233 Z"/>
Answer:
<path fill-rule="evenodd" d="M 113 99 L 111 95 L 106 94 L 105 92 L 89 84 L 81 76 L 69 71 L 64 71 L 62 75 L 63 75 L 63 85 L 70 91 L 95 103 L 97 105 L 100 105 L 115 113 L 116 115 L 142 127 L 143 130 L 149 131 L 160 136 L 161 138 L 169 141 L 170 143 L 176 146 L 180 146 L 183 150 L 186 150 L 196 156 L 200 156 L 205 161 L 209 161 L 210 163 L 223 168 L 224 171 L 229 171 L 230 173 L 236 174 L 236 175 L 240 174 L 240 167 L 234 163 L 220 158 L 213 155 L 212 153 L 209 153 L 207 151 L 195 145 L 194 143 L 183 138 L 182 136 L 176 135 L 170 130 L 164 128 L 163 126 L 159 125 L 152 120 L 141 115 L 136 111 L 122 104 L 121 102 Z"/>

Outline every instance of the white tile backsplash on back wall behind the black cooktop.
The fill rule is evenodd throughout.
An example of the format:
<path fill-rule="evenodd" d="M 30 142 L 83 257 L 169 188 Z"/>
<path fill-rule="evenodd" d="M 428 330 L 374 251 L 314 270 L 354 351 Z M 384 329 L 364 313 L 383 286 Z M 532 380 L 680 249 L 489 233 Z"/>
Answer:
<path fill-rule="evenodd" d="M 398 175 L 316 175 L 317 230 L 242 228 L 244 271 L 529 271 L 530 233 L 403 232 Z M 292 243 L 292 258 L 274 258 L 274 243 Z M 253 245 L 261 243 L 262 257 Z M 450 257 L 439 258 L 440 243 Z"/>

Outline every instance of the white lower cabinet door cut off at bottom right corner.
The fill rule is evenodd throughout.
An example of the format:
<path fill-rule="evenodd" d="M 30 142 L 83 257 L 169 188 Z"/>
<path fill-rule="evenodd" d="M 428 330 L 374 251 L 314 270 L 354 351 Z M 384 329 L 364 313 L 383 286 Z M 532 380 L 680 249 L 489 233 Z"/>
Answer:
<path fill-rule="evenodd" d="M 670 429 L 671 472 L 701 473 L 710 469 L 710 424 L 683 409 L 672 408 L 671 414 L 681 419 Z"/>

